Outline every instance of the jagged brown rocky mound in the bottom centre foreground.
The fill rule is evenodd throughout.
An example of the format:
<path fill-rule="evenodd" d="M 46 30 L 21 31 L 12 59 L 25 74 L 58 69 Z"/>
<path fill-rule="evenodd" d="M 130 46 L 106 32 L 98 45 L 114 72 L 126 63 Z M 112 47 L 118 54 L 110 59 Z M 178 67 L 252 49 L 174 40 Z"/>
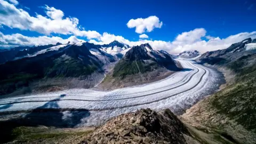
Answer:
<path fill-rule="evenodd" d="M 110 119 L 81 143 L 186 143 L 190 135 L 170 109 L 137 110 Z"/>

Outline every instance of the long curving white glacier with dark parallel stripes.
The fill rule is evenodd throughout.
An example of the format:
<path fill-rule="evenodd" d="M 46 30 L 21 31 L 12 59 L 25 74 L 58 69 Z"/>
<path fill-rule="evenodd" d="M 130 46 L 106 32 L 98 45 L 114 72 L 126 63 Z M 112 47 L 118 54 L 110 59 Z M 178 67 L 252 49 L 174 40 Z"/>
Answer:
<path fill-rule="evenodd" d="M 182 114 L 205 95 L 218 90 L 223 83 L 223 76 L 191 60 L 177 61 L 183 70 L 150 84 L 113 91 L 70 89 L 4 98 L 0 102 L 1 118 L 23 117 L 30 124 L 39 122 L 42 125 L 54 126 L 50 115 L 54 117 L 58 114 L 61 118 L 57 126 L 79 127 L 97 125 L 111 117 L 140 108 L 170 108 L 173 113 Z M 79 120 L 76 119 L 77 122 L 70 121 L 78 114 L 82 115 Z M 43 122 L 41 118 L 44 119 Z"/>

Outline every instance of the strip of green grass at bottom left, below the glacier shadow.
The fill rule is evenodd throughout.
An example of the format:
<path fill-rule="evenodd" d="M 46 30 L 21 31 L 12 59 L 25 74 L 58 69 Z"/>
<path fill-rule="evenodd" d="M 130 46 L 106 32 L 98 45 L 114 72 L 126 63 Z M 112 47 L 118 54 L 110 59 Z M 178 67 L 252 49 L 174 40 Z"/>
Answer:
<path fill-rule="evenodd" d="M 78 143 L 92 131 L 93 128 L 90 127 L 60 129 L 46 126 L 18 126 L 5 133 L 0 143 L 10 141 L 13 141 L 12 143 Z"/>

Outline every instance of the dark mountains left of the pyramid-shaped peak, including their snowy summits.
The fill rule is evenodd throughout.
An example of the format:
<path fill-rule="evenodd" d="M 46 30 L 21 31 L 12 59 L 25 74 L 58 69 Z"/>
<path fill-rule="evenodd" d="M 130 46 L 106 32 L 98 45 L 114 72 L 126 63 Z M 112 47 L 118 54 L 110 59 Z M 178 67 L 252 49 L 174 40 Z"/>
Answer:
<path fill-rule="evenodd" d="M 121 59 L 127 50 L 127 45 L 114 41 L 105 45 L 68 42 L 1 51 L 5 63 L 0 65 L 0 95 L 92 87 L 103 78 L 108 65 Z"/>

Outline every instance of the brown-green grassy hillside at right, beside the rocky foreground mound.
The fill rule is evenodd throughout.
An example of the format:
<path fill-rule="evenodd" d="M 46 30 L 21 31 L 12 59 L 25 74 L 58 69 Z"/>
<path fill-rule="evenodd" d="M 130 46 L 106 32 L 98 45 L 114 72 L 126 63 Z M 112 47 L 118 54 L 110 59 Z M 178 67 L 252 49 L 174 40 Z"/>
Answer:
<path fill-rule="evenodd" d="M 182 118 L 192 125 L 206 126 L 210 130 L 223 130 L 241 143 L 254 143 L 256 138 L 255 64 L 256 54 L 244 55 L 226 63 L 225 68 L 236 74 L 234 81 L 187 110 Z"/>

